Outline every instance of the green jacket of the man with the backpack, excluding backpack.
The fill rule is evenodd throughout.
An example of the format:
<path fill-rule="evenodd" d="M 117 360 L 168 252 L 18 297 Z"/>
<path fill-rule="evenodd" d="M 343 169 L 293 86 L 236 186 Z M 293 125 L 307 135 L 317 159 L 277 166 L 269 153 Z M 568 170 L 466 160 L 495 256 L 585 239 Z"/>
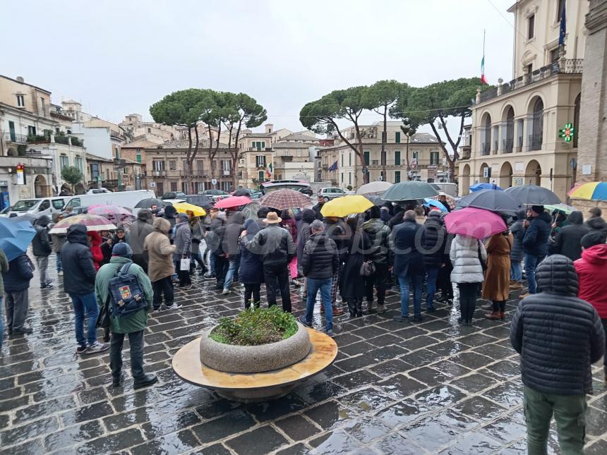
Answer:
<path fill-rule="evenodd" d="M 102 307 L 105 304 L 105 301 L 109 296 L 109 280 L 114 278 L 116 274 L 118 274 L 120 267 L 128 262 L 132 261 L 127 257 L 112 256 L 112 259 L 109 260 L 109 264 L 105 264 L 99 269 L 97 277 L 95 278 L 95 298 L 97 298 L 97 305 Z M 150 282 L 148 275 L 146 275 L 143 269 L 136 264 L 131 265 L 128 272 L 135 274 L 139 279 L 139 285 L 142 287 L 143 293 L 145 294 L 145 301 L 148 302 L 148 306 L 128 316 L 114 317 L 113 315 L 110 315 L 109 329 L 115 334 L 130 334 L 145 329 L 145 327 L 148 327 L 148 313 L 152 310 L 154 291 L 152 291 L 152 283 Z M 110 305 L 109 308 L 111 310 L 112 305 Z"/>

